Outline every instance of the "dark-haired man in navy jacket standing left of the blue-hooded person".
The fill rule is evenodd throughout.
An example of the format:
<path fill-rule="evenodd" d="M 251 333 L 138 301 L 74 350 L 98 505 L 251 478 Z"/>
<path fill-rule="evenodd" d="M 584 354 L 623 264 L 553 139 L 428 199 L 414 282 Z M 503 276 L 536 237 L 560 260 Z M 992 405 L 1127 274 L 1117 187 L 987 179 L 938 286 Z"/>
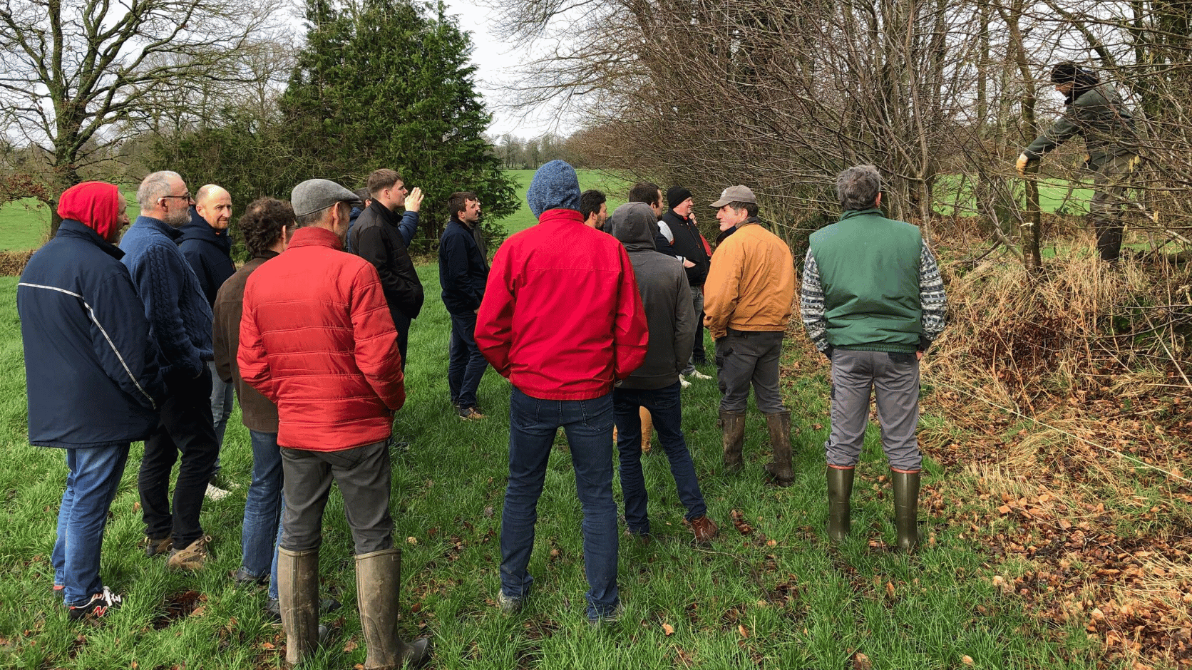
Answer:
<path fill-rule="evenodd" d="M 480 199 L 476 193 L 452 193 L 447 200 L 451 219 L 439 240 L 439 284 L 451 315 L 447 386 L 451 404 L 460 418 L 484 418 L 476 391 L 489 367 L 476 346 L 476 314 L 480 311 L 484 285 L 489 281 L 489 259 L 480 231 Z"/>

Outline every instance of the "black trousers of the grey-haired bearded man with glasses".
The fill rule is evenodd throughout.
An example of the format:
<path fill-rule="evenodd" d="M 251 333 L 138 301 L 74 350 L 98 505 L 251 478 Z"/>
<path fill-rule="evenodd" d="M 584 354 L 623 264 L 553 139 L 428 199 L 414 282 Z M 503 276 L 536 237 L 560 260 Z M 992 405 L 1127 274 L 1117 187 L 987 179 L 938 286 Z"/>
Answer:
<path fill-rule="evenodd" d="M 203 536 L 199 511 L 219 455 L 211 420 L 211 370 L 203 366 L 195 379 L 170 374 L 166 385 L 169 395 L 161 405 L 157 429 L 145 440 L 137 490 L 145 535 L 160 539 L 173 534 L 174 546 L 182 548 Z M 169 474 L 180 453 L 170 514 Z"/>

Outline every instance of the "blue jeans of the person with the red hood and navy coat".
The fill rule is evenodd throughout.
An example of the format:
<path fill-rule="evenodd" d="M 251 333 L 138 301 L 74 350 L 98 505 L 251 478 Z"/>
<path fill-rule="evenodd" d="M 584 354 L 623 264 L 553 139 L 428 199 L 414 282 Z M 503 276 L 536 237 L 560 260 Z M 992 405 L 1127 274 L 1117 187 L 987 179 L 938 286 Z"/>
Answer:
<path fill-rule="evenodd" d="M 67 490 L 58 508 L 58 536 L 50 563 L 54 583 L 66 587 L 67 606 L 87 604 L 104 590 L 99 553 L 104 526 L 129 460 L 129 445 L 66 449 Z"/>

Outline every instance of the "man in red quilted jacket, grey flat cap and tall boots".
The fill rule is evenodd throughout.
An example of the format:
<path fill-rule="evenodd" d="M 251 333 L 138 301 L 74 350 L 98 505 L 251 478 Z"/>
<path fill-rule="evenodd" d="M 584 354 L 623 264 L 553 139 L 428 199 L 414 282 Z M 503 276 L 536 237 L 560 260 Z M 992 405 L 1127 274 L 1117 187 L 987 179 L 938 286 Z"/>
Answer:
<path fill-rule="evenodd" d="M 429 658 L 427 640 L 406 645 L 397 637 L 402 563 L 389 511 L 389 441 L 405 386 L 377 269 L 342 250 L 356 201 L 325 179 L 296 186 L 286 253 L 244 287 L 240 372 L 278 405 L 286 501 L 278 595 L 290 665 L 310 657 L 318 641 L 319 531 L 333 480 L 355 542 L 365 668 Z"/>

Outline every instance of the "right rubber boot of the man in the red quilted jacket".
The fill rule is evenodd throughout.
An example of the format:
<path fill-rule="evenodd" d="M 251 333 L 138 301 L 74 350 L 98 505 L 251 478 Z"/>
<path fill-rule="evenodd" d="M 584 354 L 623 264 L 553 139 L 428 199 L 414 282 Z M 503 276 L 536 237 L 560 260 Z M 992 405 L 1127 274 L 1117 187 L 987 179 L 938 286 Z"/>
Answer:
<path fill-rule="evenodd" d="M 417 668 L 430 660 L 430 640 L 405 644 L 397 637 L 402 550 L 393 547 L 356 556 L 356 598 L 365 634 L 365 670 Z M 316 598 L 317 602 L 317 598 Z"/>

